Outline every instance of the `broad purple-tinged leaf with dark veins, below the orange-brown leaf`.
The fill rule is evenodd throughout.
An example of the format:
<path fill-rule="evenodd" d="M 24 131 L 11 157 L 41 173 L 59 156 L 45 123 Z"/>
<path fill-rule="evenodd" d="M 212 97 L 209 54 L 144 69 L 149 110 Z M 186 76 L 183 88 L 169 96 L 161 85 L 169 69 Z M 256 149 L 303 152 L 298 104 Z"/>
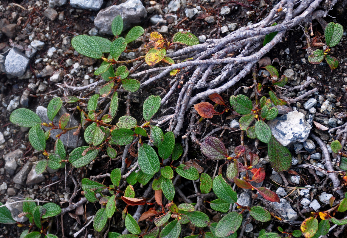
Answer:
<path fill-rule="evenodd" d="M 208 136 L 200 146 L 201 152 L 210 159 L 224 159 L 228 157 L 227 149 L 218 138 Z"/>

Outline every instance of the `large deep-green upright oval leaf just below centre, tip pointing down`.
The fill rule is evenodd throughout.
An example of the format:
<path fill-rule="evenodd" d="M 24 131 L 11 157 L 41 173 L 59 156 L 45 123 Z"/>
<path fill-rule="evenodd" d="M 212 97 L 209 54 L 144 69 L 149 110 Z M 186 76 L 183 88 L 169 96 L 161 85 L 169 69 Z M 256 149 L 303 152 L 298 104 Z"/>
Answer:
<path fill-rule="evenodd" d="M 138 150 L 138 165 L 147 175 L 154 175 L 159 171 L 160 162 L 154 149 L 148 144 L 142 144 Z"/>

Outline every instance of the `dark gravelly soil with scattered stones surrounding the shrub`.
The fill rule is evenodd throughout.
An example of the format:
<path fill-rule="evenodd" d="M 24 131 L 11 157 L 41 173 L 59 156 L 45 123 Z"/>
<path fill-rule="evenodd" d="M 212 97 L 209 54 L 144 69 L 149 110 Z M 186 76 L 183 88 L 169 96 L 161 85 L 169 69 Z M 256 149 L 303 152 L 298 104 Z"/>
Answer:
<path fill-rule="evenodd" d="M 89 95 L 98 93 L 102 80 L 94 76 L 93 72 L 101 62 L 79 55 L 71 47 L 71 38 L 79 34 L 110 37 L 106 26 L 110 25 L 115 15 L 121 14 L 127 28 L 141 25 L 147 29 L 147 32 L 158 31 L 168 39 L 180 30 L 189 30 L 203 43 L 206 39 L 226 36 L 235 29 L 259 21 L 266 16 L 274 4 L 266 0 L 253 2 L 227 0 L 17 0 L 10 2 L 2 0 L 0 3 L 0 154 L 2 158 L 0 159 L 0 202 L 10 203 L 31 197 L 67 207 L 71 201 L 77 202 L 82 197 L 75 194 L 75 197 L 71 199 L 75 186 L 64 169 L 48 169 L 43 175 L 35 173 L 37 161 L 44 156 L 33 149 L 28 142 L 28 128 L 19 128 L 9 122 L 10 113 L 19 107 L 32 109 L 41 117 L 42 122 L 48 122 L 45 107 L 53 97 L 74 95 L 88 98 Z M 278 174 L 269 169 L 268 156 L 263 150 L 260 152 L 262 157 L 260 164 L 268 168 L 264 185 L 283 197 L 281 203 L 270 203 L 268 208 L 296 226 L 301 223 L 299 220 L 302 221 L 305 218 L 305 213 L 328 208 L 330 197 L 338 197 L 336 191 L 332 190 L 327 168 L 322 163 L 322 149 L 314 137 L 318 136 L 327 145 L 332 165 L 339 170 L 338 157 L 332 153 L 329 144 L 332 140 L 338 139 L 344 146 L 347 135 L 347 25 L 345 21 L 347 12 L 346 9 L 339 10 L 337 6 L 330 13 L 336 18 L 326 20 L 340 23 L 345 29 L 341 42 L 331 53 L 340 62 L 336 70 L 331 71 L 324 62 L 317 65 L 307 62 L 307 53 L 303 49 L 305 44 L 302 29 L 290 30 L 282 42 L 268 54 L 271 60 L 278 59 L 281 73 L 288 77 L 289 93 L 286 97 L 296 98 L 308 90 L 318 88 L 313 95 L 288 105 L 286 108 L 288 113 L 269 124 L 276 138 L 290 148 L 293 157 L 290 173 Z M 314 29 L 322 32 L 319 25 L 315 22 L 313 24 Z M 140 46 L 141 40 L 134 44 Z M 128 59 L 133 59 L 134 56 L 133 52 L 122 55 Z M 250 78 L 246 77 L 247 80 Z M 141 116 L 138 109 L 142 108 L 141 103 L 147 96 L 165 93 L 168 88 L 166 82 L 167 79 L 163 79 L 151 88 L 143 89 L 136 95 L 133 94 L 134 117 Z M 252 80 L 245 84 L 250 86 Z M 241 85 L 239 83 L 235 89 Z M 244 89 L 242 93 L 248 92 Z M 228 100 L 230 95 L 222 96 Z M 172 96 L 171 105 L 167 108 L 174 105 L 175 100 L 177 96 Z M 164 115 L 167 108 L 162 110 L 161 115 Z M 59 114 L 66 111 L 72 113 L 75 109 L 65 105 Z M 120 109 L 125 109 L 125 106 L 120 106 Z M 75 117 L 70 122 L 72 126 L 78 124 L 77 113 Z M 238 119 L 235 116 L 213 118 L 213 123 L 219 123 L 228 127 L 228 131 L 234 131 L 227 135 L 226 144 L 229 151 L 234 151 L 233 149 L 239 143 Z M 210 131 L 211 129 L 208 129 L 206 133 Z M 60 138 L 68 150 L 84 144 L 83 138 L 73 135 L 72 132 Z M 52 133 L 51 137 L 55 138 L 55 135 Z M 53 143 L 54 140 L 48 141 L 50 149 L 53 149 Z M 346 146 L 344 150 L 347 150 Z M 188 157 L 204 168 L 211 165 L 204 162 L 204 157 L 197 150 Z M 80 181 L 86 175 L 102 174 L 106 171 L 106 166 L 101 165 L 93 174 L 91 174 L 92 167 L 84 171 L 77 170 L 74 172 L 75 178 Z M 213 169 L 212 166 L 211 170 Z M 342 183 L 341 186 L 343 185 Z M 295 189 L 295 187 L 309 189 Z M 194 188 L 189 189 L 186 195 L 189 195 L 189 192 L 194 193 Z M 345 187 L 342 189 L 346 190 Z M 238 193 L 242 201 L 240 205 L 251 204 L 250 193 L 242 189 Z M 290 196 L 287 196 L 289 193 L 291 193 Z M 25 221 L 26 217 L 17 217 L 22 212 L 21 203 L 9 205 L 9 209 L 15 220 Z M 65 237 L 73 237 L 73 234 L 84 226 L 86 217 L 91 214 L 95 214 L 93 205 L 79 206 L 64 217 L 58 216 L 52 227 L 60 237 L 62 232 Z M 217 217 L 215 219 L 218 220 Z M 272 223 L 270 228 L 267 228 L 276 230 L 277 225 Z M 260 229 L 266 229 L 261 227 L 261 224 L 251 222 L 244 226 L 246 237 L 256 237 Z M 124 224 L 117 224 L 111 229 L 121 232 L 124 230 Z M 22 230 L 23 228 L 16 226 L 0 224 L 0 238 L 19 237 Z M 339 226 L 331 234 L 336 237 L 346 237 L 347 233 L 343 230 L 344 226 Z M 90 226 L 87 232 L 81 233 L 80 237 L 92 238 L 98 235 L 93 233 Z"/>

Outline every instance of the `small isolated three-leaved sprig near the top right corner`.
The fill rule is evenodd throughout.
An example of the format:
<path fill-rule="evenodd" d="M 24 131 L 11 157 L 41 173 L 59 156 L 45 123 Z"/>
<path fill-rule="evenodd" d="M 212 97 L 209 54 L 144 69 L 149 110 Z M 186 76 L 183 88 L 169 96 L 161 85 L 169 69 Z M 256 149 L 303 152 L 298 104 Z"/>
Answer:
<path fill-rule="evenodd" d="M 325 59 L 331 70 L 336 69 L 339 66 L 339 61 L 334 56 L 328 55 L 328 53 L 331 50 L 330 47 L 340 42 L 343 33 L 344 28 L 340 24 L 335 24 L 333 22 L 328 23 L 324 30 L 326 44 L 321 45 L 325 46 L 326 49 L 313 51 L 312 54 L 308 56 L 308 62 L 311 64 L 319 64 Z"/>

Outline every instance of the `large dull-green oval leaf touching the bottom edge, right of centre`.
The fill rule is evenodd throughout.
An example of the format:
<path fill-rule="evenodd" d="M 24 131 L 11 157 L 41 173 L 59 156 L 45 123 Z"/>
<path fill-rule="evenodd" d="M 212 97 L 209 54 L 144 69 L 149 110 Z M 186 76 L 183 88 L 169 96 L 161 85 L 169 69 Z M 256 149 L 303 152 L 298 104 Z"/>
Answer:
<path fill-rule="evenodd" d="M 215 234 L 218 237 L 230 236 L 237 231 L 242 222 L 242 214 L 230 212 L 218 222 Z"/>

